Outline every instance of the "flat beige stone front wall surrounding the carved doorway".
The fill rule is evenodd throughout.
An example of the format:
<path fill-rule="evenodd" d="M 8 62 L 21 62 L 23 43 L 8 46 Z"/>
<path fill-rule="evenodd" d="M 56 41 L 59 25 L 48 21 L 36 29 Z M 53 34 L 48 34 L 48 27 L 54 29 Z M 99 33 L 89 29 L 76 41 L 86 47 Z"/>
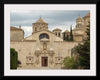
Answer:
<path fill-rule="evenodd" d="M 39 56 L 39 64 L 36 64 L 37 57 L 35 56 L 35 50 L 37 47 L 41 47 L 42 50 L 42 43 L 40 44 L 36 41 L 33 42 L 11 42 L 10 47 L 15 48 L 18 52 L 18 60 L 21 61 L 21 68 L 20 69 L 60 69 L 62 65 L 62 61 L 66 56 L 71 57 L 71 49 L 78 45 L 79 42 L 54 42 L 52 45 L 48 42 L 47 50 L 50 50 L 52 47 L 54 51 L 53 56 L 53 63 L 50 63 L 51 57 L 48 54 L 40 54 Z M 39 44 L 39 45 L 38 45 Z M 41 57 L 46 56 L 48 57 L 48 67 L 41 66 Z M 32 57 L 30 61 L 31 64 L 27 64 L 27 58 Z M 59 57 L 61 58 L 60 60 Z M 19 68 L 18 68 L 19 69 Z"/>

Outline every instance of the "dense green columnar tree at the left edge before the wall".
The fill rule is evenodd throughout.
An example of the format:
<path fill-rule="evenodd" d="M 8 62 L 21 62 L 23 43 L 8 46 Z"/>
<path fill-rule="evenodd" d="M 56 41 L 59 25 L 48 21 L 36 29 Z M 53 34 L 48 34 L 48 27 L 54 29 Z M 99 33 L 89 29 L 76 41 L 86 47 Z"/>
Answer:
<path fill-rule="evenodd" d="M 17 69 L 18 53 L 14 48 L 10 48 L 10 69 Z"/>

